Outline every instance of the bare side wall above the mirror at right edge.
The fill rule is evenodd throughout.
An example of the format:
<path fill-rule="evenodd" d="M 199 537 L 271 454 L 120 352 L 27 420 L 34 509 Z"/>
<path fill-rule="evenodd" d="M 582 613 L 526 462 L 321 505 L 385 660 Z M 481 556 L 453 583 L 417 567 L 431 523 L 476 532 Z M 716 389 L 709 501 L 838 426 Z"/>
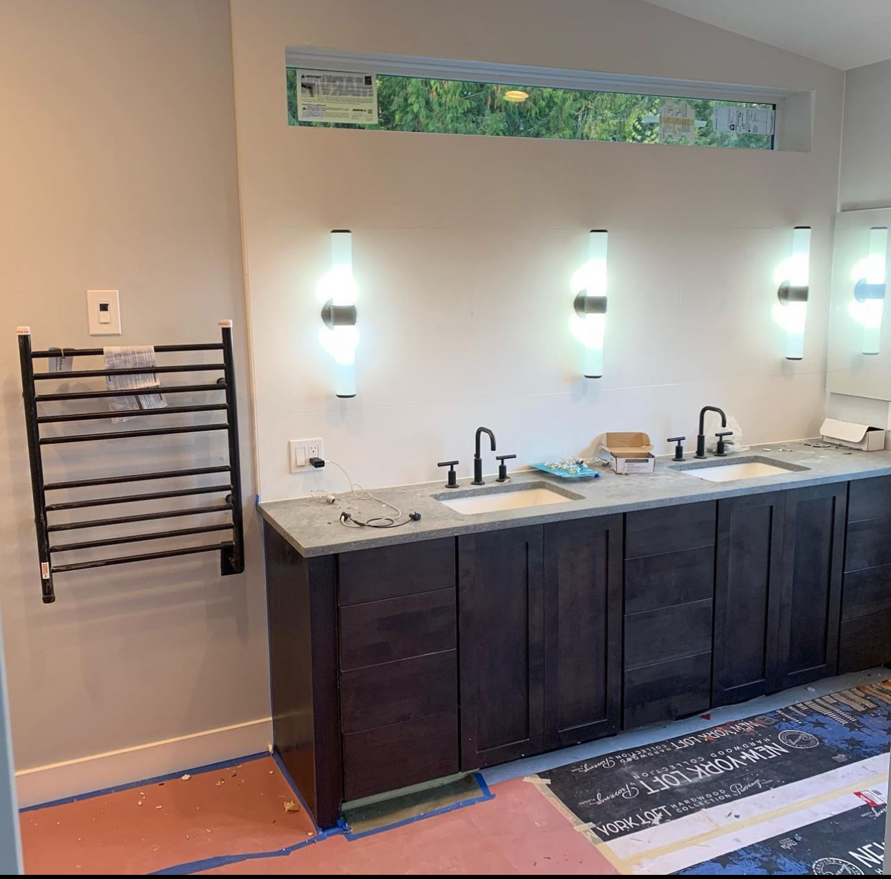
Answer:
<path fill-rule="evenodd" d="M 891 208 L 891 61 L 848 70 L 841 151 L 842 210 Z"/>

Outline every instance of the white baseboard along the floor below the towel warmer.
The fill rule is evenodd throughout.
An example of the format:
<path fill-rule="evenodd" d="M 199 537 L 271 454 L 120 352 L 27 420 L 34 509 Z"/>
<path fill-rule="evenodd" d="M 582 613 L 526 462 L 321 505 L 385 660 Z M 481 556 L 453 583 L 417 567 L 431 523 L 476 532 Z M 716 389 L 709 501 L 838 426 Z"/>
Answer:
<path fill-rule="evenodd" d="M 264 717 L 120 751 L 21 769 L 15 774 L 19 807 L 184 772 L 208 763 L 237 760 L 266 751 L 272 735 L 272 718 Z"/>

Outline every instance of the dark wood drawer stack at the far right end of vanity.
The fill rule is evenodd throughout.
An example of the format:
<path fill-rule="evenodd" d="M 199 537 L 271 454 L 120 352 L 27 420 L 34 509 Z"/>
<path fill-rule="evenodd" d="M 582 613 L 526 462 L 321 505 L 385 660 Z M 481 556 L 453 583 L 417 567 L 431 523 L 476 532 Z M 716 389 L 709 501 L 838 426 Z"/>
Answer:
<path fill-rule="evenodd" d="M 891 476 L 858 479 L 847 505 L 838 671 L 891 661 Z"/>

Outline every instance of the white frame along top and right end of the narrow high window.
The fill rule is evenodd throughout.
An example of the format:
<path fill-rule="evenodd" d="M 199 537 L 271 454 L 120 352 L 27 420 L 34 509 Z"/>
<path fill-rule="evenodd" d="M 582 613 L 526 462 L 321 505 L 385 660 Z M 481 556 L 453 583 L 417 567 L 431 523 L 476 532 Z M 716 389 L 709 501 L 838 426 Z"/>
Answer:
<path fill-rule="evenodd" d="M 551 88 L 579 89 L 589 92 L 665 95 L 672 98 L 706 98 L 715 101 L 739 101 L 773 104 L 773 151 L 783 150 L 785 105 L 788 99 L 806 101 L 811 93 L 764 85 L 699 82 L 692 79 L 666 77 L 634 77 L 619 73 L 598 73 L 593 70 L 572 70 L 531 67 L 521 64 L 495 64 L 486 61 L 452 61 L 446 58 L 421 58 L 410 55 L 364 54 L 319 49 L 315 46 L 289 46 L 285 49 L 285 66 L 313 70 L 348 70 L 391 77 L 454 79 L 466 82 L 500 83 L 503 85 L 541 85 Z M 809 115 L 809 114 L 808 114 Z M 803 124 L 803 123 L 802 123 Z M 810 118 L 806 119 L 810 128 Z M 785 138 L 783 138 L 785 140 Z M 795 149 L 801 149 L 797 147 Z M 810 137 L 806 137 L 806 150 Z"/>

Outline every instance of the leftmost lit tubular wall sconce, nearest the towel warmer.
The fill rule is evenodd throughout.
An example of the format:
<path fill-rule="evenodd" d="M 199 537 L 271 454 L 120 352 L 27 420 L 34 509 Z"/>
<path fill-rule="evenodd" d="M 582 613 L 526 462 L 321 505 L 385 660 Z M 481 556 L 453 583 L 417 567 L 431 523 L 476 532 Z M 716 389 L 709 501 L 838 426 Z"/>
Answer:
<path fill-rule="evenodd" d="M 353 233 L 348 229 L 331 231 L 331 269 L 315 288 L 323 302 L 319 343 L 334 358 L 334 393 L 339 397 L 356 396 L 356 294 L 353 277 Z"/>

